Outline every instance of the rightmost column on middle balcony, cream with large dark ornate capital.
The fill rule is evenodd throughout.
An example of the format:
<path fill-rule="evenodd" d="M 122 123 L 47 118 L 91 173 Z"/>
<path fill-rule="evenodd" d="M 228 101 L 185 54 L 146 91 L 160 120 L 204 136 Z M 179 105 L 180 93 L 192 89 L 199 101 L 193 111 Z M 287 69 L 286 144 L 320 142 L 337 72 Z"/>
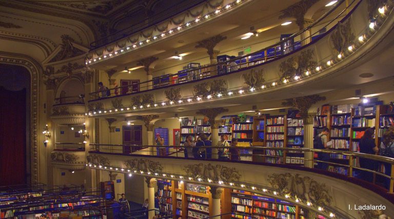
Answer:
<path fill-rule="evenodd" d="M 294 17 L 295 23 L 297 23 L 300 30 L 303 30 L 304 28 L 308 27 L 312 23 L 310 19 L 304 18 L 305 13 L 312 5 L 314 5 L 317 2 L 318 0 L 302 0 L 301 2 L 295 3 L 294 5 L 291 5 L 286 9 L 282 10 L 281 12 L 283 14 L 279 16 L 279 18 L 282 19 L 287 17 Z M 310 43 L 310 32 L 311 30 L 308 29 L 305 32 L 301 33 L 302 46 L 305 46 Z"/>

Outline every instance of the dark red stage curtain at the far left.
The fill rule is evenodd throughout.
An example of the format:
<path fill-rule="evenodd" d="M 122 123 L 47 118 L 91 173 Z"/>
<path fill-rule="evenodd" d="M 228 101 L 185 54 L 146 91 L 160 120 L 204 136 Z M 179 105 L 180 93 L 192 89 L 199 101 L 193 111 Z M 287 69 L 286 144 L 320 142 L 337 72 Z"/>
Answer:
<path fill-rule="evenodd" d="M 26 184 L 26 89 L 0 87 L 0 186 Z"/>

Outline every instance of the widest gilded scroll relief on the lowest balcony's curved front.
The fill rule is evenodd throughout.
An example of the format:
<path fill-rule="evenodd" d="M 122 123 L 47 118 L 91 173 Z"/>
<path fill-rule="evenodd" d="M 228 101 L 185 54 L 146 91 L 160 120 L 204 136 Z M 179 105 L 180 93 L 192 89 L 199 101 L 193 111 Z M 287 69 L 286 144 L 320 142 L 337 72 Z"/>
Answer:
<path fill-rule="evenodd" d="M 316 206 L 330 206 L 332 197 L 324 183 L 319 183 L 309 176 L 292 173 L 272 173 L 268 183 L 283 194 L 309 201 Z"/>

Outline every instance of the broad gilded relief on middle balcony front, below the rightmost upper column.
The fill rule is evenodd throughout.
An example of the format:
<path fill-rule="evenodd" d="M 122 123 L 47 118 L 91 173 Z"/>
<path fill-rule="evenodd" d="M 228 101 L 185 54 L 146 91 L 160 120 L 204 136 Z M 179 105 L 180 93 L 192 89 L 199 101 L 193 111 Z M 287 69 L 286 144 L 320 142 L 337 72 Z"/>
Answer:
<path fill-rule="evenodd" d="M 302 75 L 305 71 L 315 68 L 317 62 L 312 60 L 313 56 L 314 51 L 308 49 L 283 61 L 279 65 L 279 70 L 282 72 L 281 80 Z"/>

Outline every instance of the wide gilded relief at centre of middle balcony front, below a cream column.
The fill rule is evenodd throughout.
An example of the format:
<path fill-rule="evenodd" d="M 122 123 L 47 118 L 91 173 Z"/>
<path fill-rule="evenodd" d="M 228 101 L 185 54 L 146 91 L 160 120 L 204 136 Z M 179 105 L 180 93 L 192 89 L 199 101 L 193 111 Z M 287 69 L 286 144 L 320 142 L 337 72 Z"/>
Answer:
<path fill-rule="evenodd" d="M 210 83 L 203 82 L 193 87 L 194 97 L 215 95 L 227 92 L 227 83 L 224 79 L 214 79 Z"/>

